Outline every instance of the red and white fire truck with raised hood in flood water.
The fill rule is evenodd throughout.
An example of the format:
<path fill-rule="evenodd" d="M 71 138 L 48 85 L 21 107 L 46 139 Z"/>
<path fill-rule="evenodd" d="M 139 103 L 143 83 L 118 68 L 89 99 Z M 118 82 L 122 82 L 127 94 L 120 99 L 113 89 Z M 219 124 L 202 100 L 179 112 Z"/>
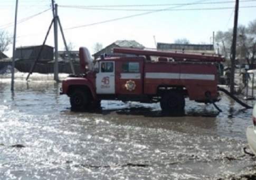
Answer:
<path fill-rule="evenodd" d="M 115 48 L 119 57 L 92 62 L 87 48 L 80 47 L 81 76 L 62 82 L 72 109 L 99 105 L 102 99 L 157 103 L 163 111 L 184 110 L 185 98 L 202 103 L 218 100 L 216 55 L 184 54 Z M 124 56 L 126 54 L 126 56 Z"/>

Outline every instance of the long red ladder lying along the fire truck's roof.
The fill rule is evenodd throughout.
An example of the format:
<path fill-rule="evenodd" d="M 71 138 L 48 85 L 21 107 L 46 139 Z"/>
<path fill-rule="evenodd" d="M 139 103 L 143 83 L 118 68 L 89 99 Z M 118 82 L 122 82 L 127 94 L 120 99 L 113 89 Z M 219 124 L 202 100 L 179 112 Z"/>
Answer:
<path fill-rule="evenodd" d="M 201 55 L 201 54 L 188 54 L 188 53 L 174 53 L 168 51 L 151 51 L 143 49 L 134 49 L 134 48 L 114 48 L 114 53 L 121 54 L 133 54 L 133 55 L 145 55 L 147 59 L 150 56 L 158 57 L 171 57 L 175 61 L 196 61 L 196 62 L 224 62 L 225 58 L 219 55 Z"/>

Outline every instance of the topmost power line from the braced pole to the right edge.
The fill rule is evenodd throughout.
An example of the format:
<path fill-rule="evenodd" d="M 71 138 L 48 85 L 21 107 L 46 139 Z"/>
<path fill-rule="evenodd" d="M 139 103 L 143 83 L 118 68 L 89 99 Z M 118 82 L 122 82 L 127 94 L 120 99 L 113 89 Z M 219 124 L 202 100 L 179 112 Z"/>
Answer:
<path fill-rule="evenodd" d="M 256 0 L 240 0 L 240 3 L 245 2 L 255 2 Z M 234 1 L 219 1 L 219 2 L 204 2 L 204 3 L 195 3 L 197 5 L 205 5 L 205 4 L 227 4 L 234 3 Z M 138 4 L 138 5 L 92 5 L 92 6 L 79 6 L 79 5 L 60 5 L 60 7 L 149 7 L 149 6 L 179 6 L 179 5 L 191 5 L 191 3 L 173 3 L 173 4 Z"/>

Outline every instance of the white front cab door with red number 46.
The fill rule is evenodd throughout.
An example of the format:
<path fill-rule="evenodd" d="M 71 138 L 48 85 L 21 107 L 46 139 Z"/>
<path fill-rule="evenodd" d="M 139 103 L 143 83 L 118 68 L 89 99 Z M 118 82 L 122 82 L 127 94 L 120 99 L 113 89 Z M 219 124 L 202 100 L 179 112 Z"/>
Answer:
<path fill-rule="evenodd" d="M 101 61 L 96 74 L 97 94 L 115 94 L 115 62 Z"/>

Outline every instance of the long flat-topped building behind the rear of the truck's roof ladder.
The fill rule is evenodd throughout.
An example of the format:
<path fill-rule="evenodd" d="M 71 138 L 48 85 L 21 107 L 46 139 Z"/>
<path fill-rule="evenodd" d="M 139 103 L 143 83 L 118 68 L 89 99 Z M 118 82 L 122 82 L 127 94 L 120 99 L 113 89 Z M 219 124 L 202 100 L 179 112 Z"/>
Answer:
<path fill-rule="evenodd" d="M 157 43 L 157 50 L 183 53 L 215 54 L 212 44 L 168 44 Z"/>

